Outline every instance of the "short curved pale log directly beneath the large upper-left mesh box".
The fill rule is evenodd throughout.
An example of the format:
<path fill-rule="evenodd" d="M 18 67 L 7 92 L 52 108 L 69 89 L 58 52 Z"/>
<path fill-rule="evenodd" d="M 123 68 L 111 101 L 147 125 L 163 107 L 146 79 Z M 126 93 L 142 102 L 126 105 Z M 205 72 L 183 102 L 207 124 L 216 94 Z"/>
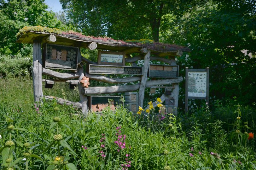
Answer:
<path fill-rule="evenodd" d="M 47 68 L 43 68 L 42 74 L 48 75 L 48 76 L 51 76 L 51 77 L 55 77 L 55 78 L 59 78 L 59 79 L 62 79 L 62 80 L 73 79 L 73 78 L 78 78 L 79 77 L 78 73 L 72 73 L 72 72 L 70 72 L 70 73 L 60 73 L 60 72 L 55 72 L 55 71 L 49 70 Z"/>

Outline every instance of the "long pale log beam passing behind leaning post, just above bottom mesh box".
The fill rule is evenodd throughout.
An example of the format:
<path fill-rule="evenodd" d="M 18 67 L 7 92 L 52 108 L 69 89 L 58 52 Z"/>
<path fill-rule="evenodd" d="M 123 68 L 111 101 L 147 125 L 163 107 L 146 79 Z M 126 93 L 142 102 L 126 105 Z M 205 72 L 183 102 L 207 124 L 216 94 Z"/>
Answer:
<path fill-rule="evenodd" d="M 151 80 L 147 81 L 146 88 L 156 85 L 168 85 L 172 83 L 179 83 L 183 80 L 183 77 L 164 79 L 164 80 Z M 109 94 L 109 93 L 121 93 L 121 92 L 131 92 L 136 91 L 140 88 L 140 83 L 135 85 L 126 86 L 110 86 L 110 87 L 90 87 L 83 88 L 81 93 L 83 95 L 96 95 L 96 94 Z"/>

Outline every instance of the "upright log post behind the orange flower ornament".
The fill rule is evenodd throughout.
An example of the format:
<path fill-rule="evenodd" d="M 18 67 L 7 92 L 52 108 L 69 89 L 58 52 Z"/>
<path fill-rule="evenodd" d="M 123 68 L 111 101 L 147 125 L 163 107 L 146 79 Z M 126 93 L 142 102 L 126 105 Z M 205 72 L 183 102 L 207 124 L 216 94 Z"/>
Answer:
<path fill-rule="evenodd" d="M 77 59 L 78 59 L 78 63 L 82 61 L 82 56 L 81 56 L 81 51 L 80 49 L 78 50 L 78 56 L 77 56 Z M 84 68 L 83 67 L 80 67 L 78 66 L 78 74 L 79 74 L 79 82 L 82 80 L 82 78 L 84 77 Z M 84 96 L 82 93 L 81 93 L 81 90 L 83 89 L 82 87 L 82 84 L 81 83 L 78 83 L 78 90 L 79 90 L 79 96 L 80 96 L 80 101 L 82 103 L 82 113 L 84 114 L 84 116 L 87 116 L 87 113 L 88 113 L 88 109 L 87 109 L 87 96 Z"/>

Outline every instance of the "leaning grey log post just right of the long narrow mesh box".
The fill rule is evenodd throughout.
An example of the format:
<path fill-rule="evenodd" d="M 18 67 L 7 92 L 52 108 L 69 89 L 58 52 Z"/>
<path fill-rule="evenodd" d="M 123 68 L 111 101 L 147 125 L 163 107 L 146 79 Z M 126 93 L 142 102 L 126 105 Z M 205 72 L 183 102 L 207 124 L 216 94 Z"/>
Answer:
<path fill-rule="evenodd" d="M 143 107 L 145 87 L 146 87 L 146 82 L 148 78 L 149 61 L 150 61 L 150 50 L 148 50 L 148 52 L 144 56 L 144 66 L 143 66 L 143 73 L 142 73 L 141 82 L 140 82 L 139 102 L 138 102 L 139 106 L 141 107 Z"/>

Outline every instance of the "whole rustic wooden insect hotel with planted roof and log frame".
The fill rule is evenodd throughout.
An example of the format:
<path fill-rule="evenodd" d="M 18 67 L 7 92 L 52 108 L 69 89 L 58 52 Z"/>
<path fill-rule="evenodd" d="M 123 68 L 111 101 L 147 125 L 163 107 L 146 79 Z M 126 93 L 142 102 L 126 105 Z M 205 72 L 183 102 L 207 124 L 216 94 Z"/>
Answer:
<path fill-rule="evenodd" d="M 58 30 L 52 33 L 52 30 L 47 31 L 48 28 L 45 27 L 34 28 L 24 28 L 16 42 L 33 44 L 32 77 L 35 102 L 39 102 L 42 97 L 47 100 L 55 98 L 59 104 L 73 105 L 82 109 L 82 113 L 86 115 L 88 108 L 97 111 L 105 106 L 93 101 L 101 98 L 102 94 L 125 92 L 125 104 L 128 104 L 131 111 L 136 112 L 138 106 L 143 107 L 145 88 L 150 88 L 150 93 L 154 93 L 156 88 L 165 88 L 165 93 L 160 99 L 165 102 L 168 113 L 177 114 L 179 82 L 183 81 L 183 77 L 178 75 L 179 67 L 175 57 L 181 56 L 184 51 L 189 52 L 188 48 L 162 43 L 143 44 L 111 38 L 96 38 L 73 31 Z M 93 62 L 81 56 L 81 48 L 98 50 L 98 61 Z M 137 55 L 131 56 L 131 54 Z M 137 66 L 138 60 L 144 60 L 144 65 Z M 152 60 L 165 64 L 150 64 Z M 66 72 L 61 73 L 58 72 L 59 70 L 66 70 Z M 52 78 L 42 79 L 42 74 Z M 111 78 L 108 77 L 110 74 L 125 74 L 130 77 Z M 152 77 L 152 80 L 148 80 L 148 77 Z M 90 80 L 119 85 L 91 87 Z M 54 82 L 58 81 L 69 82 L 70 88 L 78 85 L 80 101 L 72 102 L 53 96 L 44 96 L 42 82 L 45 82 L 46 88 L 52 88 Z M 120 85 L 137 81 L 139 83 L 134 85 Z M 156 105 L 156 102 L 153 102 L 153 106 L 156 107 Z"/>

